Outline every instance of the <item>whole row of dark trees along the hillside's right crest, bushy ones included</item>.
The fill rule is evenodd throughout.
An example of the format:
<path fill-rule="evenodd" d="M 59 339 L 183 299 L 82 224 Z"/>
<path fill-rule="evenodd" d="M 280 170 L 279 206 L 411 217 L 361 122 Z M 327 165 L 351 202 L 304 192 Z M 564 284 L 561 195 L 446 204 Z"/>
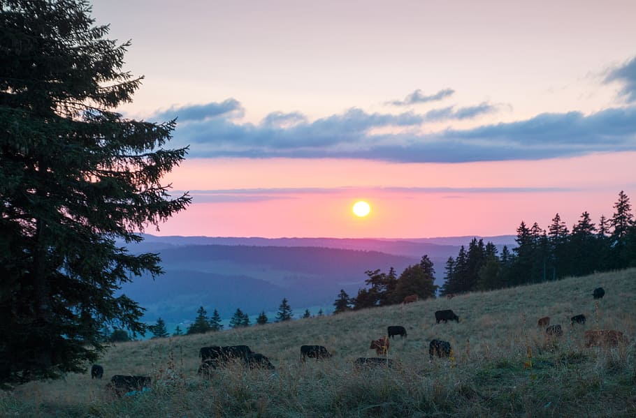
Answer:
<path fill-rule="evenodd" d="M 483 239 L 472 239 L 468 249 L 461 246 L 457 257 L 449 257 L 445 264 L 440 294 L 495 290 L 636 266 L 636 222 L 624 191 L 614 204 L 612 218 L 601 216 L 598 225 L 584 211 L 570 231 L 557 213 L 547 230 L 536 222 L 528 227 L 522 221 L 515 241 L 512 251 L 504 246 L 500 254 L 495 244 L 484 244 Z M 435 297 L 430 280 L 433 266 L 427 262 L 424 255 L 419 266 L 408 267 L 400 277 L 393 269 L 389 274 L 367 271 L 369 288 L 352 298 L 341 291 L 334 303 L 335 312 L 400 303 L 405 287 L 421 299 Z M 409 285 L 404 286 L 403 281 Z M 421 288 L 414 286 L 417 283 Z M 395 292 L 397 289 L 401 291 Z"/>

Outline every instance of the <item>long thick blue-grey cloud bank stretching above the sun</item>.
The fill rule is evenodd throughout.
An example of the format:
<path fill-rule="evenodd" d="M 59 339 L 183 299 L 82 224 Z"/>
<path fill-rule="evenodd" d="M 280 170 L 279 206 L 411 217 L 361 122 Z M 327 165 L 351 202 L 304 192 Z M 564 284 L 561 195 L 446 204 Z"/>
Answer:
<path fill-rule="evenodd" d="M 239 108 L 240 105 L 236 105 Z M 636 107 L 544 113 L 523 121 L 422 133 L 426 122 L 466 119 L 493 106 L 447 107 L 424 115 L 368 113 L 352 108 L 309 121 L 273 112 L 258 124 L 231 112 L 180 124 L 173 146 L 201 158 L 357 158 L 414 163 L 538 160 L 636 150 Z"/>

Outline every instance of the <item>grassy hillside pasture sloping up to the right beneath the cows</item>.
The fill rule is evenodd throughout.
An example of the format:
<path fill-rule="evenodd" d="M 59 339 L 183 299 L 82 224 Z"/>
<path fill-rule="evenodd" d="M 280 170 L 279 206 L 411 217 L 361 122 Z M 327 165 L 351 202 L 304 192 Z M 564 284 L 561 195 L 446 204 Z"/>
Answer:
<path fill-rule="evenodd" d="M 598 306 L 592 291 L 605 288 Z M 32 382 L 0 394 L 0 415 L 56 417 L 634 417 L 636 416 L 636 269 L 454 299 L 296 320 L 284 324 L 121 343 L 88 374 Z M 459 323 L 435 324 L 451 308 Z M 584 326 L 570 317 L 584 313 Z M 549 315 L 564 335 L 545 341 L 537 319 Z M 396 369 L 356 371 L 356 357 L 375 357 L 371 339 L 388 325 L 408 337 L 391 341 Z M 618 329 L 630 343 L 584 348 L 586 329 Z M 428 359 L 428 342 L 450 341 L 453 359 Z M 196 374 L 204 345 L 250 345 L 271 371 L 233 366 L 209 379 Z M 325 345 L 328 361 L 299 361 L 303 344 Z M 532 367 L 528 363 L 532 351 Z M 114 398 L 107 376 L 147 374 L 151 391 Z"/>

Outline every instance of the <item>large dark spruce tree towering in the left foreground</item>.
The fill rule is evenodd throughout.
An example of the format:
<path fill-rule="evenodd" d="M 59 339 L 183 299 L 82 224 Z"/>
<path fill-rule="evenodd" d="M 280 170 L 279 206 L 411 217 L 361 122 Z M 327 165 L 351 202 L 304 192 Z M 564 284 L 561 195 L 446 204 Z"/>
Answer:
<path fill-rule="evenodd" d="M 83 373 L 103 324 L 143 334 L 135 276 L 162 273 L 138 242 L 185 209 L 164 174 L 175 121 L 124 119 L 142 77 L 85 0 L 0 2 L 0 385 Z M 149 283 L 152 285 L 152 283 Z"/>

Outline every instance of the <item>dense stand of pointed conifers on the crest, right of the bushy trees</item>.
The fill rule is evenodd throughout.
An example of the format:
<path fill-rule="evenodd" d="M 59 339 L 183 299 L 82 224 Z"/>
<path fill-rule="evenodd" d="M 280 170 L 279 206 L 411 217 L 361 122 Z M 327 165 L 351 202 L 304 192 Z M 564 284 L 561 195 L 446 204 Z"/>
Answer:
<path fill-rule="evenodd" d="M 624 191 L 609 219 L 601 216 L 595 224 L 584 211 L 572 230 L 558 213 L 547 230 L 522 221 L 515 241 L 512 251 L 504 246 L 500 254 L 483 239 L 472 239 L 468 249 L 461 246 L 457 257 L 446 262 L 440 293 L 494 290 L 636 266 L 636 223 Z"/>

